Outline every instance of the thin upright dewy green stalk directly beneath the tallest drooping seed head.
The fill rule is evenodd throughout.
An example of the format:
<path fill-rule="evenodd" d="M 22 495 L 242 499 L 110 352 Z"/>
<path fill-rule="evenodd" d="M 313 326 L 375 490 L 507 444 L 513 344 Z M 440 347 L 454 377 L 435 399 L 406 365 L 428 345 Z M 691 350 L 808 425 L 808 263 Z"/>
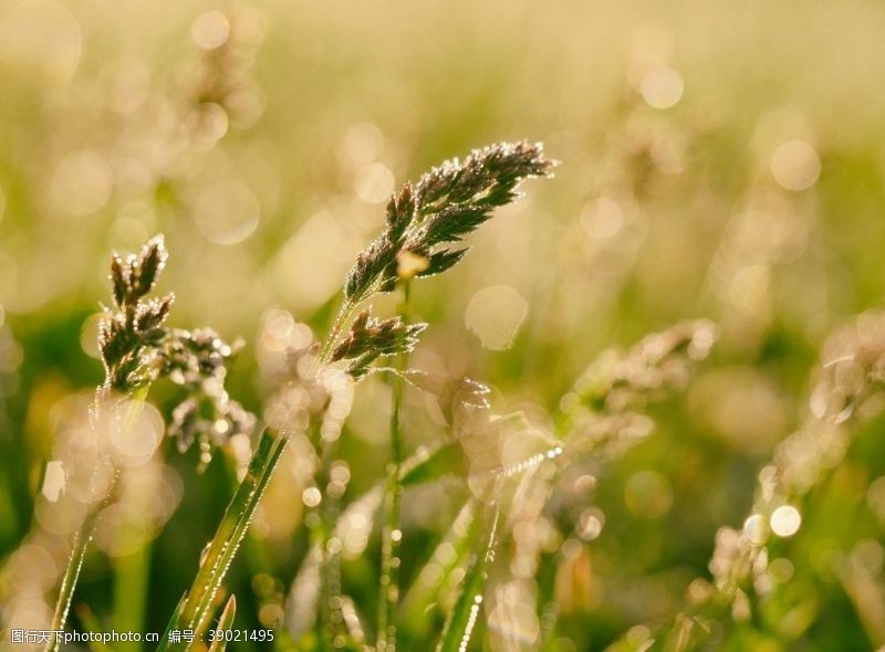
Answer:
<path fill-rule="evenodd" d="M 409 282 L 403 283 L 403 301 L 399 316 L 405 322 L 408 316 Z M 408 367 L 408 351 L 399 355 L 397 370 Z M 400 529 L 400 502 L 403 485 L 399 472 L 403 464 L 403 433 L 400 412 L 405 382 L 399 374 L 392 379 L 391 395 L 391 463 L 387 467 L 387 488 L 385 492 L 386 519 L 382 530 L 381 547 L 381 596 L 378 600 L 377 651 L 396 650 L 396 611 L 399 603 L 399 547 L 403 540 Z"/>

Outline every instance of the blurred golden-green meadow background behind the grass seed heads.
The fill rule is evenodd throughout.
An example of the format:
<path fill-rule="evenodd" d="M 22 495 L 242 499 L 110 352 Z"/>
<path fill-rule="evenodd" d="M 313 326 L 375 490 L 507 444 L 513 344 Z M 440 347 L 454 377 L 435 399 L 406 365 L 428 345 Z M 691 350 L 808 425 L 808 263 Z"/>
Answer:
<path fill-rule="evenodd" d="M 262 319 L 285 311 L 323 333 L 396 187 L 528 138 L 562 161 L 556 177 L 416 286 L 431 327 L 415 364 L 487 381 L 501 408 L 554 412 L 603 348 L 683 318 L 719 324 L 714 360 L 654 409 L 656 433 L 597 463 L 596 488 L 570 507 L 605 527 L 559 571 L 550 649 L 666 622 L 708 574 L 717 528 L 747 516 L 826 334 L 885 304 L 883 33 L 872 0 L 0 1 L 0 558 L 39 522 L 64 406 L 102 379 L 111 250 L 166 234 L 171 323 L 243 337 L 231 393 L 259 410 Z M 353 495 L 384 469 L 387 391 L 361 386 L 345 428 Z M 421 397 L 408 404 L 424 423 Z M 885 644 L 881 589 L 852 599 L 825 561 L 864 544 L 881 587 L 885 485 L 868 487 L 885 473 L 883 428 L 815 490 L 793 541 L 809 624 L 736 634 L 732 649 Z M 231 493 L 223 461 L 197 475 L 195 459 L 168 445 L 180 505 L 134 562 L 145 631 L 163 631 Z M 292 454 L 233 567 L 240 627 L 279 621 L 303 555 L 295 466 Z M 405 578 L 457 513 L 457 485 L 423 490 L 419 506 L 406 495 Z M 75 603 L 104 627 L 128 553 L 86 561 Z M 373 541 L 346 568 L 369 612 L 376 555 Z"/>

